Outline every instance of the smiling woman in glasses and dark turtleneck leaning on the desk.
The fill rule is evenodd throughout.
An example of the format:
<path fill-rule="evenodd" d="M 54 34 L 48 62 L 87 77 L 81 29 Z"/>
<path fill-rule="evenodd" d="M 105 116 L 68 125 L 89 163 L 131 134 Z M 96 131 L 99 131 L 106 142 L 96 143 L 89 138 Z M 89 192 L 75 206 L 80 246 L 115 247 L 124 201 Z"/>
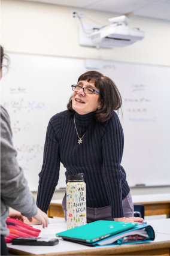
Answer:
<path fill-rule="evenodd" d="M 84 173 L 87 186 L 87 222 L 98 219 L 142 222 L 133 217 L 126 173 L 120 165 L 123 130 L 114 110 L 122 105 L 113 81 L 96 71 L 78 78 L 68 110 L 50 119 L 37 205 L 47 212 L 59 179 L 60 162 L 68 176 Z M 62 95 L 64 97 L 64 93 Z M 63 198 L 66 218 L 66 198 Z"/>

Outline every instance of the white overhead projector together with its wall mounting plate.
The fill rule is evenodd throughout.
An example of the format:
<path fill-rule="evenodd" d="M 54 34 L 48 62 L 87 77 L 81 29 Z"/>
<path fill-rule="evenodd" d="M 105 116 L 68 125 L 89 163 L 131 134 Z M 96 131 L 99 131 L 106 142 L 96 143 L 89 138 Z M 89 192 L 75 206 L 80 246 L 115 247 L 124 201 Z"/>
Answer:
<path fill-rule="evenodd" d="M 138 28 L 129 28 L 127 23 L 128 17 L 119 16 L 109 19 L 112 23 L 107 26 L 95 26 L 83 27 L 80 25 L 79 42 L 81 46 L 96 46 L 102 48 L 113 48 L 129 46 L 138 40 L 142 40 L 145 36 L 144 31 L 140 31 Z M 90 33 L 87 33 L 86 29 Z M 88 35 L 87 35 L 88 34 Z"/>

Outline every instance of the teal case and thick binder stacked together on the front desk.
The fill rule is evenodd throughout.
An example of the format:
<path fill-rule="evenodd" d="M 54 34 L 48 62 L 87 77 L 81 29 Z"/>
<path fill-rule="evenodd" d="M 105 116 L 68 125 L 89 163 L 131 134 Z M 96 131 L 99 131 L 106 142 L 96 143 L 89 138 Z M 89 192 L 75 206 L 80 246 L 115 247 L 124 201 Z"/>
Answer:
<path fill-rule="evenodd" d="M 130 245 L 154 240 L 150 225 L 135 222 L 95 221 L 56 234 L 63 240 L 87 246 Z"/>

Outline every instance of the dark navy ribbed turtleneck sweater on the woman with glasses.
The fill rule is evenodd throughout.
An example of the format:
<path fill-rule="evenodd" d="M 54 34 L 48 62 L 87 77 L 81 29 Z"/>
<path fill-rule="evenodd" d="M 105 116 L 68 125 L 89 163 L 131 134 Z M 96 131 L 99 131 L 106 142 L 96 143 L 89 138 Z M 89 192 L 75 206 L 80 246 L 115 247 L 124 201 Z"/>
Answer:
<path fill-rule="evenodd" d="M 83 137 L 78 144 L 78 135 Z M 129 193 L 126 173 L 120 165 L 123 130 L 115 112 L 107 122 L 98 122 L 95 112 L 78 115 L 68 110 L 54 115 L 48 124 L 44 160 L 39 174 L 37 206 L 47 212 L 59 179 L 60 162 L 68 176 L 84 173 L 87 206 L 111 206 L 111 217 L 123 217 L 122 199 Z"/>

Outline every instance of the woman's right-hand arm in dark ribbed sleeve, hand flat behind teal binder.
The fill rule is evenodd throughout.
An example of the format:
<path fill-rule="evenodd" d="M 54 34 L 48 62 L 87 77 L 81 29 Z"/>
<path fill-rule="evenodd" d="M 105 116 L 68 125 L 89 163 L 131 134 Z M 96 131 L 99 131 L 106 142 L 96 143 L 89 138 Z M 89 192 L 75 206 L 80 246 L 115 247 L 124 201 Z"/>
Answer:
<path fill-rule="evenodd" d="M 126 174 L 121 168 L 123 155 L 123 129 L 117 114 L 114 112 L 105 128 L 102 140 L 103 153 L 103 177 L 107 187 L 110 200 L 111 217 L 115 221 L 139 221 L 141 218 L 125 218 L 122 205 L 122 180 L 125 181 Z"/>

